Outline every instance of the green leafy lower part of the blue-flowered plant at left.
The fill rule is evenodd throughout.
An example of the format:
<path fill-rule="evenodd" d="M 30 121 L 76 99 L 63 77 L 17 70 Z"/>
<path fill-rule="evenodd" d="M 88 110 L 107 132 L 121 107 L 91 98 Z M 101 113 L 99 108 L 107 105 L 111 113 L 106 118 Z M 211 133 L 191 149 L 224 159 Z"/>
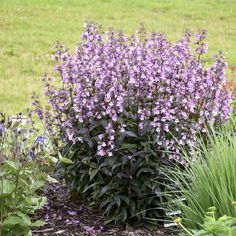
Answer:
<path fill-rule="evenodd" d="M 42 221 L 31 222 L 28 216 L 46 202 L 45 197 L 37 194 L 44 180 L 42 176 L 29 177 L 35 175 L 35 170 L 20 161 L 7 160 L 0 169 L 0 231 L 3 236 L 31 235 L 30 227 L 44 224 Z"/>

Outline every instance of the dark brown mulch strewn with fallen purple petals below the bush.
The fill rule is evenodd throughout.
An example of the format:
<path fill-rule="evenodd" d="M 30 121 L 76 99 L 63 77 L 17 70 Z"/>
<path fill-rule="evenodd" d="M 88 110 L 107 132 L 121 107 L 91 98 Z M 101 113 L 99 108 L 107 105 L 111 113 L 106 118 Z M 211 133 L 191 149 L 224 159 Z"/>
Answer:
<path fill-rule="evenodd" d="M 32 230 L 33 236 L 174 236 L 177 233 L 159 229 L 148 230 L 137 227 L 122 227 L 104 224 L 101 211 L 94 210 L 88 204 L 71 200 L 66 187 L 57 185 L 45 189 L 48 201 L 33 217 L 47 224 Z"/>

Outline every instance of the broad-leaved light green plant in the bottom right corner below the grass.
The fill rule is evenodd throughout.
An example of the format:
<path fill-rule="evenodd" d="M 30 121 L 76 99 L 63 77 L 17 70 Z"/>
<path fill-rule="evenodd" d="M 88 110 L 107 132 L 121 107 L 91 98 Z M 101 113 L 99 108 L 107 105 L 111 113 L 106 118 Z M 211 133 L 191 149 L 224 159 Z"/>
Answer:
<path fill-rule="evenodd" d="M 235 202 L 233 202 L 235 205 Z M 236 211 L 236 208 L 235 208 Z M 233 236 L 236 235 L 236 217 L 231 216 L 221 216 L 216 219 L 215 217 L 216 208 L 210 207 L 208 212 L 206 212 L 206 216 L 204 219 L 204 224 L 201 226 L 200 230 L 188 230 L 186 229 L 182 223 L 181 219 L 175 219 L 175 222 L 180 225 L 186 235 L 189 236 L 214 236 L 214 235 L 222 235 L 222 236 Z"/>

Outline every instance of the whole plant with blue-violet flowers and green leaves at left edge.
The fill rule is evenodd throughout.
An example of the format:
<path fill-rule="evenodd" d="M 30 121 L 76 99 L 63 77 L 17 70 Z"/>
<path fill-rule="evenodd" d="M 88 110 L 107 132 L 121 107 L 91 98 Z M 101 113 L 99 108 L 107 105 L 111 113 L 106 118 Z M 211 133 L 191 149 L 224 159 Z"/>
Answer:
<path fill-rule="evenodd" d="M 45 139 L 36 136 L 30 120 L 1 114 L 0 121 L 0 235 L 32 235 L 30 215 L 43 206 L 40 190 L 50 177 L 45 165 Z"/>

